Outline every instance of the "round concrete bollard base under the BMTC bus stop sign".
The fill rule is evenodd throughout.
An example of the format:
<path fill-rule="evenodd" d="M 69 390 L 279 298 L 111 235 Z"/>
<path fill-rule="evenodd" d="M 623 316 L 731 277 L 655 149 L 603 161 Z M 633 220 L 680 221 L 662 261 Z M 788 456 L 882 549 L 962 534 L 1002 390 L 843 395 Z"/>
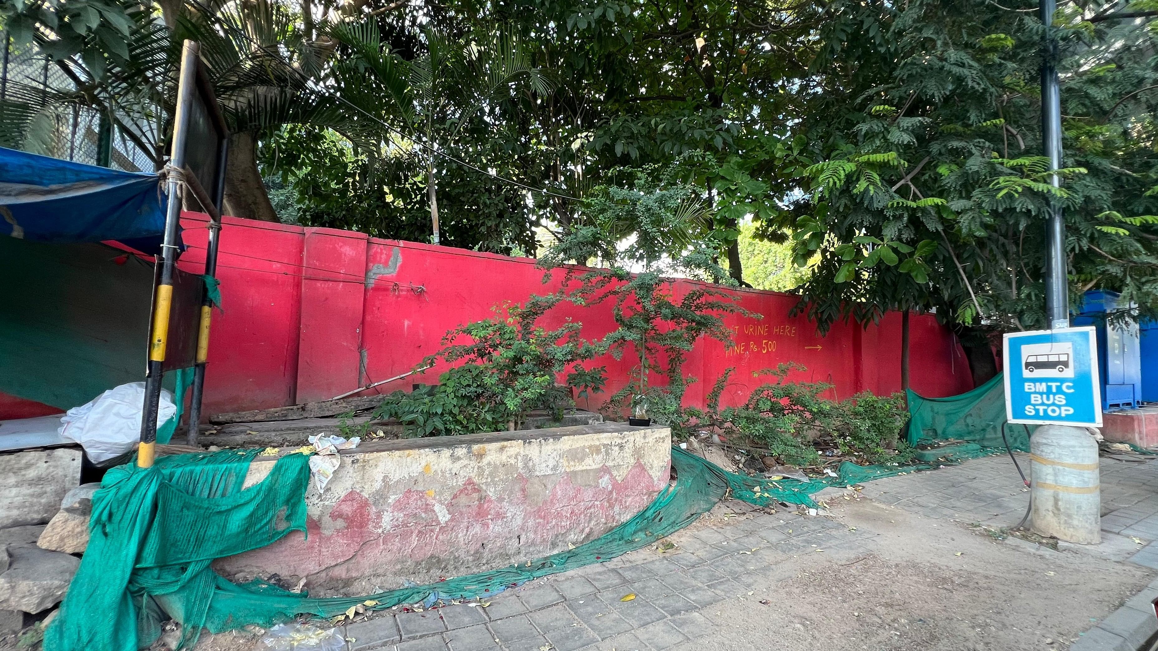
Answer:
<path fill-rule="evenodd" d="M 1098 442 L 1083 427 L 1042 425 L 1029 437 L 1034 533 L 1067 542 L 1101 542 Z"/>

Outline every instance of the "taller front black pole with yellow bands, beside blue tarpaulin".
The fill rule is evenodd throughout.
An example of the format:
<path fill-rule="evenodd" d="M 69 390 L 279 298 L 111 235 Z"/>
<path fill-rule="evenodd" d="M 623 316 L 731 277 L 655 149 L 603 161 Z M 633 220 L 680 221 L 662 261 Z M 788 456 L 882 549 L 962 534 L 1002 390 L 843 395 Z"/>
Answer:
<path fill-rule="evenodd" d="M 181 81 L 177 86 L 177 112 L 173 120 L 173 149 L 167 175 L 168 205 L 164 217 L 164 242 L 157 264 L 160 280 L 153 291 L 153 324 L 149 332 L 148 371 L 145 374 L 145 405 L 141 410 L 141 442 L 137 451 L 137 466 L 153 466 L 156 446 L 156 412 L 161 401 L 161 378 L 164 374 L 164 352 L 169 336 L 169 314 L 173 307 L 173 276 L 177 265 L 177 226 L 181 221 L 179 170 L 185 167 L 185 140 L 189 137 L 189 111 L 196 88 L 198 46 L 185 41 L 181 53 Z"/>

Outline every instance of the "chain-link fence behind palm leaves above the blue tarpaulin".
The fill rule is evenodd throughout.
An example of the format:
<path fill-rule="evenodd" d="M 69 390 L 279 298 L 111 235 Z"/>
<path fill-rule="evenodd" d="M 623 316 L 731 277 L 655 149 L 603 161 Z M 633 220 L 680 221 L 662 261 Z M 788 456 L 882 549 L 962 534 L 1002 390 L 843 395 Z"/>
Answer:
<path fill-rule="evenodd" d="M 3 44 L 0 59 L 0 107 L 8 105 L 8 101 L 16 101 L 19 94 L 22 94 L 23 100 L 28 100 L 30 94 L 35 100 L 35 95 L 41 94 L 39 107 L 29 119 L 25 137 L 8 145 L 58 159 L 101 164 L 100 111 L 72 102 L 47 102 L 50 95 L 74 90 L 75 82 L 49 57 L 35 49 L 14 47 L 7 31 L 0 32 L 0 39 Z M 29 136 L 30 131 L 35 131 L 35 136 Z M 154 171 L 156 166 L 146 152 L 117 129 L 110 131 L 109 167 L 126 171 Z"/>

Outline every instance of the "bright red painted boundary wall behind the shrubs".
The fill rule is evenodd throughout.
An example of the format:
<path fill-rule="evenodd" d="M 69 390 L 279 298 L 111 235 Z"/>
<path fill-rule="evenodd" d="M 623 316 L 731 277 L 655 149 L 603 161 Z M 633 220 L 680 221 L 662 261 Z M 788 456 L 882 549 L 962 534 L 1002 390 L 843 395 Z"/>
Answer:
<path fill-rule="evenodd" d="M 181 266 L 203 271 L 206 217 L 184 213 L 189 249 Z M 484 319 L 492 306 L 521 301 L 556 285 L 529 258 L 379 240 L 330 228 L 303 228 L 226 218 L 218 277 L 225 313 L 214 312 L 206 375 L 206 414 L 325 400 L 410 371 L 439 349 L 456 326 Z M 681 280 L 680 286 L 691 283 Z M 687 373 L 698 382 L 687 403 L 702 405 L 712 381 L 735 367 L 724 403 L 742 401 L 758 383 L 753 371 L 797 361 L 792 379 L 826 381 L 834 396 L 900 389 L 900 316 L 862 329 L 836 324 L 827 337 L 804 316 L 790 317 L 796 298 L 739 290 L 741 305 L 763 319 L 730 316 L 736 345 L 701 342 Z M 558 308 L 584 336 L 613 328 L 607 306 Z M 913 388 L 946 396 L 973 387 L 952 334 L 932 315 L 911 320 Z M 608 394 L 626 381 L 630 360 L 607 359 Z M 379 387 L 379 393 L 435 381 L 440 368 Z M 606 396 L 607 394 L 603 394 Z M 596 396 L 589 407 L 598 407 Z M 581 401 L 582 402 L 582 401 Z"/>

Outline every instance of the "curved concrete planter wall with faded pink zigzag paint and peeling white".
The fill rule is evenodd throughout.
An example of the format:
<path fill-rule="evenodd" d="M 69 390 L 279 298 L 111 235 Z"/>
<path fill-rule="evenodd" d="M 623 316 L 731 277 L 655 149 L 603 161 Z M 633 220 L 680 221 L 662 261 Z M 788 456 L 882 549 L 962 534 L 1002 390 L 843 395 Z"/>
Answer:
<path fill-rule="evenodd" d="M 343 453 L 308 537 L 222 558 L 235 580 L 305 578 L 313 594 L 373 592 L 501 568 L 599 537 L 668 483 L 670 431 L 601 423 L 367 442 Z M 273 458 L 258 458 L 247 485 Z"/>

